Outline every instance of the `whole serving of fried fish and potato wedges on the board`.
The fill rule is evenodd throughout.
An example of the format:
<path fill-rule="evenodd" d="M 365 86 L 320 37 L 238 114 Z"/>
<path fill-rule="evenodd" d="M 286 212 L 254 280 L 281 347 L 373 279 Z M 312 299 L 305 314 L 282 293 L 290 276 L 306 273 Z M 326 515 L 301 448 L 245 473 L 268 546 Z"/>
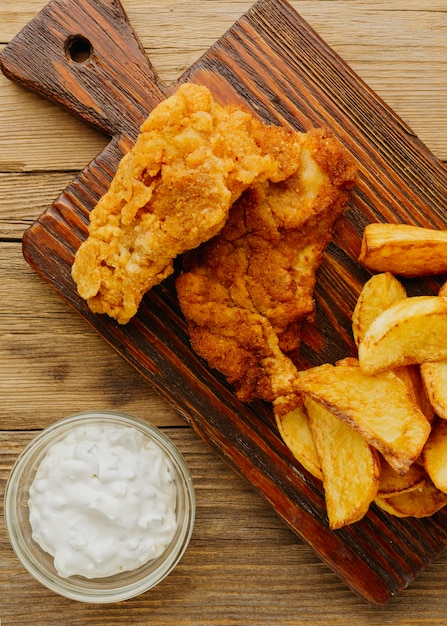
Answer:
<path fill-rule="evenodd" d="M 158 105 L 90 215 L 72 269 L 95 313 L 126 324 L 173 272 L 194 350 L 322 481 L 331 529 L 375 503 L 399 517 L 447 504 L 447 283 L 408 297 L 396 276 L 447 271 L 447 232 L 365 228 L 376 272 L 352 315 L 357 356 L 298 371 L 316 273 L 356 184 L 327 129 L 262 123 L 186 84 Z"/>

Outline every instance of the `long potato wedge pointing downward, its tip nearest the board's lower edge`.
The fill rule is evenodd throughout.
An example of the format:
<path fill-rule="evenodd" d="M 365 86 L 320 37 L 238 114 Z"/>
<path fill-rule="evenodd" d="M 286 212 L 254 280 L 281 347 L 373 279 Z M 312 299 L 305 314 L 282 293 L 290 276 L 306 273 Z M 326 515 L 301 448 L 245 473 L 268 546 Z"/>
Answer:
<path fill-rule="evenodd" d="M 323 472 L 329 526 L 335 530 L 367 513 L 379 486 L 379 455 L 358 432 L 311 398 L 305 406 Z"/>

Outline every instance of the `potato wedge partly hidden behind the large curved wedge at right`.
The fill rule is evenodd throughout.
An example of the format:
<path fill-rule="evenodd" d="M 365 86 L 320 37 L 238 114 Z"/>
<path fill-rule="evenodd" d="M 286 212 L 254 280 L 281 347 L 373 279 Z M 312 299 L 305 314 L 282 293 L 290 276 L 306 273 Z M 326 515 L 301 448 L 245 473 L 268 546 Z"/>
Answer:
<path fill-rule="evenodd" d="M 357 347 L 376 317 L 406 297 L 404 286 L 390 272 L 376 274 L 364 284 L 352 314 L 352 333 Z"/>

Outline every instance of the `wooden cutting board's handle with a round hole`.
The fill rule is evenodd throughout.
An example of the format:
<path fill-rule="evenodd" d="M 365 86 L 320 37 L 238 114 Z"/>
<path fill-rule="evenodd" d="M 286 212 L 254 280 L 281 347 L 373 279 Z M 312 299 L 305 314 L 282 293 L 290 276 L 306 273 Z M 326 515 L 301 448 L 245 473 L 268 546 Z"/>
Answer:
<path fill-rule="evenodd" d="M 4 48 L 0 68 L 111 136 L 134 137 L 165 97 L 118 0 L 52 0 Z"/>

